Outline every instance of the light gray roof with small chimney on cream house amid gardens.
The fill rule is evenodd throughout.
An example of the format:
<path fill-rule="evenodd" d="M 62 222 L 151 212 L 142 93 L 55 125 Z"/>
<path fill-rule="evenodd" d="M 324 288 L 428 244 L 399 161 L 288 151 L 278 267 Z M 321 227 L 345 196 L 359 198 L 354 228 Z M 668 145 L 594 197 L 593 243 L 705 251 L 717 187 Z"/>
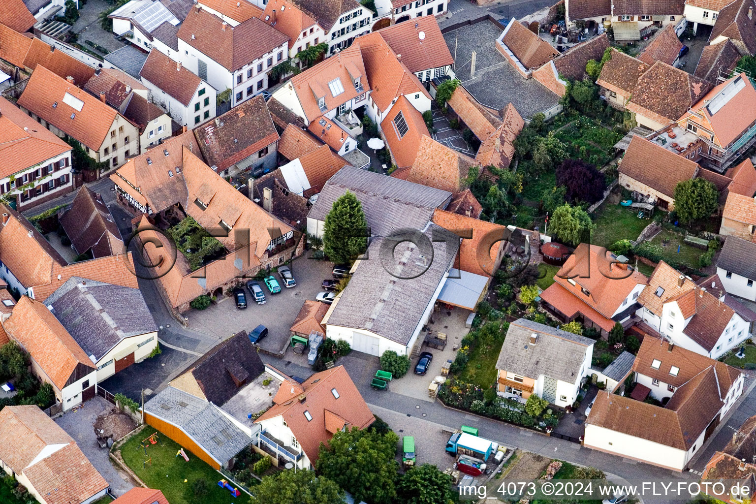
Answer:
<path fill-rule="evenodd" d="M 530 335 L 533 333 L 538 334 L 535 345 L 530 344 Z M 531 320 L 518 319 L 510 323 L 507 338 L 504 339 L 496 361 L 496 369 L 533 379 L 544 375 L 562 382 L 575 383 L 586 348 L 590 345 L 593 345 L 593 339 Z"/>

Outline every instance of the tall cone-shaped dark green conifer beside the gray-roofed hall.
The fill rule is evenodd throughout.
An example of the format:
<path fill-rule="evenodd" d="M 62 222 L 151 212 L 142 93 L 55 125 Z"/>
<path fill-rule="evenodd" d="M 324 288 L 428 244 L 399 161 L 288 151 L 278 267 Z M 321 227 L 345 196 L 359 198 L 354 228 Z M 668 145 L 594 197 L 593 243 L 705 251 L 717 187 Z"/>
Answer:
<path fill-rule="evenodd" d="M 336 264 L 349 262 L 367 249 L 367 220 L 355 193 L 347 190 L 333 202 L 323 227 L 323 251 Z"/>

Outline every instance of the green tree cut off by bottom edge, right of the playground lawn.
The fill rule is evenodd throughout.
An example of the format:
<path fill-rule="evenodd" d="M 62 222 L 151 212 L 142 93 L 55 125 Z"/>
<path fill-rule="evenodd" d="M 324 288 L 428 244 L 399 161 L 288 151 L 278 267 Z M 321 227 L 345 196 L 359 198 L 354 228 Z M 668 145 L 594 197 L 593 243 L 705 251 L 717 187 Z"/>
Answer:
<path fill-rule="evenodd" d="M 255 487 L 252 504 L 343 504 L 344 490 L 314 471 L 281 471 Z"/>

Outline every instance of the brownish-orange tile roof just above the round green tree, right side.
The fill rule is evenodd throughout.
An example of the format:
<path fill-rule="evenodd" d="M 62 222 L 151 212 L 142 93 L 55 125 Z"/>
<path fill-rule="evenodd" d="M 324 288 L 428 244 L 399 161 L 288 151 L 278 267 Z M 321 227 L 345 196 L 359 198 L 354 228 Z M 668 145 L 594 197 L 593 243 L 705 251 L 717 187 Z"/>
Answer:
<path fill-rule="evenodd" d="M 659 165 L 665 169 L 656 169 Z M 671 198 L 678 182 L 696 177 L 699 165 L 635 135 L 620 162 L 619 172 Z"/>

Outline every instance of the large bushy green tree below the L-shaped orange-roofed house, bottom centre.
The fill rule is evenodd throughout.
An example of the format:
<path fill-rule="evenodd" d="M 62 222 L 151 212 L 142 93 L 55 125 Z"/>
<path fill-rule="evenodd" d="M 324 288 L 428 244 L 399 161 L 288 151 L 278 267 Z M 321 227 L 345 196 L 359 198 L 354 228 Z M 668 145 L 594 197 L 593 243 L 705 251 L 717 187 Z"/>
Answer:
<path fill-rule="evenodd" d="M 333 434 L 328 446 L 321 444 L 316 462 L 318 474 L 371 504 L 391 504 L 395 499 L 398 464 L 395 460 L 399 438 L 394 432 L 352 428 Z"/>

